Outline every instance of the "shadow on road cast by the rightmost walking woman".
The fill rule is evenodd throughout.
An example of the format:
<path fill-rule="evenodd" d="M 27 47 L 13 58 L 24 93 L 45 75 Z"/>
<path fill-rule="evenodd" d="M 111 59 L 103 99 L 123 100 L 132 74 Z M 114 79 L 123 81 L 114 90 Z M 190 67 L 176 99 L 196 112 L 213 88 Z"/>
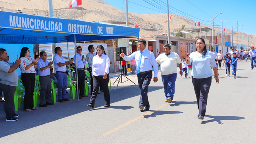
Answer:
<path fill-rule="evenodd" d="M 210 118 L 213 118 L 211 120 L 208 120 L 208 121 L 202 121 L 201 124 L 206 124 L 206 123 L 211 123 L 211 122 L 218 122 L 220 125 L 222 125 L 223 123 L 221 121 L 223 120 L 240 120 L 240 119 L 245 119 L 245 117 L 237 117 L 237 116 L 219 116 L 219 115 L 216 115 L 216 116 L 212 116 L 212 115 L 205 115 L 205 117 L 210 117 Z"/>

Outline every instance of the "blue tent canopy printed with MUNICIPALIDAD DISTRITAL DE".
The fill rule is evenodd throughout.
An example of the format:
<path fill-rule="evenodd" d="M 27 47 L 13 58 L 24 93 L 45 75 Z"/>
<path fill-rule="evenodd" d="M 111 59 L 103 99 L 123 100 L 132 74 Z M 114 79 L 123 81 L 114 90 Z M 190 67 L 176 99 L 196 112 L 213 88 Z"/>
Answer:
<path fill-rule="evenodd" d="M 139 37 L 139 28 L 0 11 L 0 43 L 38 44 Z"/>

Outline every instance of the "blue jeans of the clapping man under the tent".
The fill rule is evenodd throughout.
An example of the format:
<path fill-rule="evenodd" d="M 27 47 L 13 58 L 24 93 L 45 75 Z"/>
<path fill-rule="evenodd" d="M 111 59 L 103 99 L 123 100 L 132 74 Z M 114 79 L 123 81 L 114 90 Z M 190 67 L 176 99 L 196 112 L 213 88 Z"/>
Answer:
<path fill-rule="evenodd" d="M 58 96 L 60 99 L 67 97 L 67 74 L 56 72 L 56 78 L 58 79 Z"/>

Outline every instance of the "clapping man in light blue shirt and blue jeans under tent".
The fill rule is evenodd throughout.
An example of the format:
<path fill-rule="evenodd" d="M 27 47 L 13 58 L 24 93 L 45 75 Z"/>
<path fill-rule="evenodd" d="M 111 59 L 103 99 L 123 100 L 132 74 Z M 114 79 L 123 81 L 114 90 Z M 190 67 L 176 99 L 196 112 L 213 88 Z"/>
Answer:
<path fill-rule="evenodd" d="M 59 102 L 66 102 L 69 101 L 67 99 L 67 67 L 66 65 L 69 65 L 73 63 L 72 60 L 68 60 L 67 62 L 64 60 L 62 56 L 62 49 L 57 46 L 54 48 L 55 55 L 53 57 L 53 62 L 55 65 L 55 70 L 56 70 L 56 78 L 58 80 L 58 98 Z"/>

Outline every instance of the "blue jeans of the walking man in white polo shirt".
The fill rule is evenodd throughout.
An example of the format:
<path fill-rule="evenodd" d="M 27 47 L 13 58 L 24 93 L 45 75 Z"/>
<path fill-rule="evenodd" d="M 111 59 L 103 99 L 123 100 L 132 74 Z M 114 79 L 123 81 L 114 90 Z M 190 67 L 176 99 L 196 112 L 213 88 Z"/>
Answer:
<path fill-rule="evenodd" d="M 166 99 L 171 98 L 171 100 L 173 100 L 177 73 L 173 73 L 170 75 L 161 75 L 161 76 L 164 84 L 164 94 L 166 95 Z"/>

